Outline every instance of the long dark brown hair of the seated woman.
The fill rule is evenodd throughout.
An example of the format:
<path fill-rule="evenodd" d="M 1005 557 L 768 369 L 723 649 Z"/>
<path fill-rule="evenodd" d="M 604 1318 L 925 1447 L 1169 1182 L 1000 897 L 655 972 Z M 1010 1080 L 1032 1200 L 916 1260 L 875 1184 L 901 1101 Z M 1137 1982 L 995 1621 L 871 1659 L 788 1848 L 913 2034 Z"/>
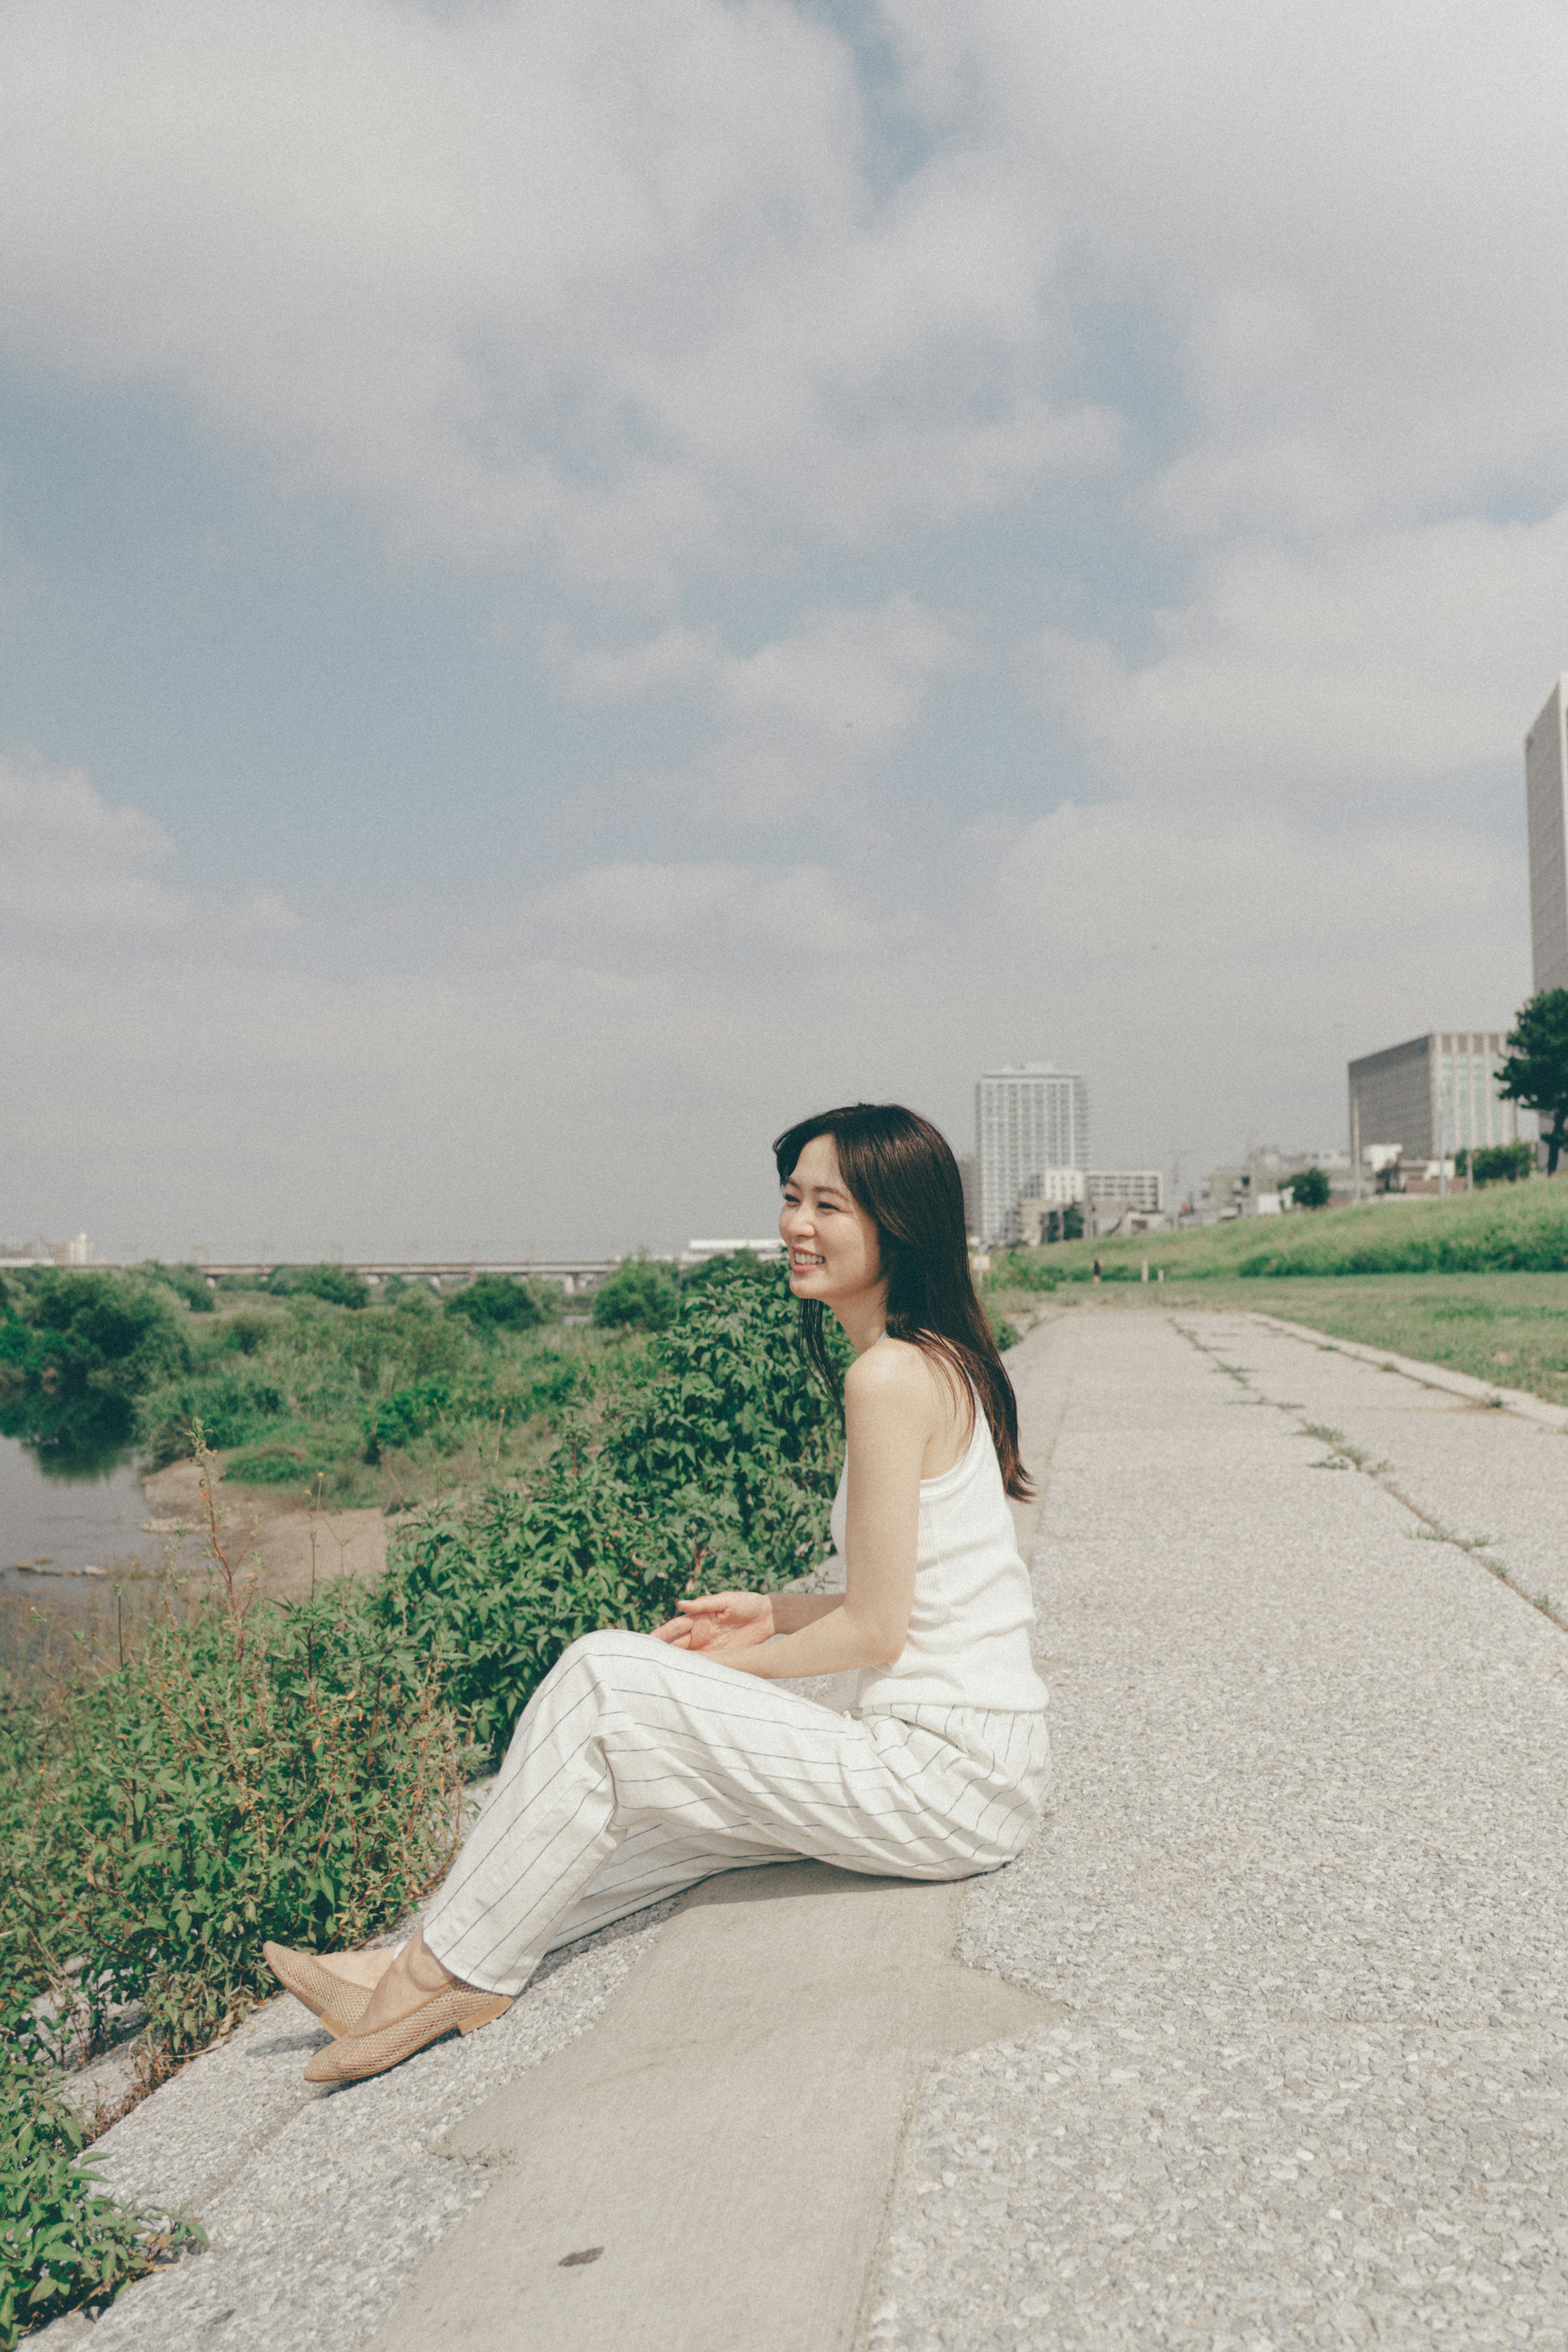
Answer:
<path fill-rule="evenodd" d="M 790 1181 L 795 1162 L 816 1136 L 832 1136 L 844 1183 L 877 1228 L 882 1270 L 889 1277 L 889 1336 L 907 1338 L 959 1381 L 973 1383 L 997 1442 L 1001 1484 L 1027 1503 L 1034 1489 L 1018 1458 L 1018 1399 L 969 1275 L 964 1183 L 947 1138 L 903 1103 L 846 1103 L 816 1120 L 799 1120 L 778 1136 L 773 1160 L 780 1183 Z M 799 1338 L 842 1409 L 820 1298 L 802 1298 Z"/>

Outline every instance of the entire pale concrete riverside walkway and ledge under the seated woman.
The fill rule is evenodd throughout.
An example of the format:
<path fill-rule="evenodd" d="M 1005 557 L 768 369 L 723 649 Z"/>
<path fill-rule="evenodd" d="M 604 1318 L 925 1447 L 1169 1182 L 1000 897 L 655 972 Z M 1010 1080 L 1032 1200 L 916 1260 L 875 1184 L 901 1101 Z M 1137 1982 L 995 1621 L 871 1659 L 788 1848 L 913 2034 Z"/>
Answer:
<path fill-rule="evenodd" d="M 270 2004 L 101 2143 L 214 2232 L 101 2352 L 1568 2347 L 1568 1444 L 1248 1317 L 1011 1367 L 1030 1853 L 698 1891 L 315 2100 Z"/>

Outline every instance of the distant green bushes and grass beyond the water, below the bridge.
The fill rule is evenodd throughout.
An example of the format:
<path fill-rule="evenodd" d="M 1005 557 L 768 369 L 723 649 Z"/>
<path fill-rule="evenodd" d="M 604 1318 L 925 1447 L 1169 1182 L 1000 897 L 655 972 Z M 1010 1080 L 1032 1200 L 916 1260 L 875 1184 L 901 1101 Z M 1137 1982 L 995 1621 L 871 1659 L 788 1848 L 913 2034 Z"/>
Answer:
<path fill-rule="evenodd" d="M 0 1291 L 0 1432 L 80 1475 L 190 1451 L 200 1421 L 235 1484 L 400 1508 L 529 1468 L 592 1395 L 604 1334 L 559 1287 L 482 1277 L 364 1305 L 353 1268 L 280 1268 L 214 1294 L 186 1268 L 49 1270 Z M 621 1336 L 625 1345 L 625 1336 Z"/>

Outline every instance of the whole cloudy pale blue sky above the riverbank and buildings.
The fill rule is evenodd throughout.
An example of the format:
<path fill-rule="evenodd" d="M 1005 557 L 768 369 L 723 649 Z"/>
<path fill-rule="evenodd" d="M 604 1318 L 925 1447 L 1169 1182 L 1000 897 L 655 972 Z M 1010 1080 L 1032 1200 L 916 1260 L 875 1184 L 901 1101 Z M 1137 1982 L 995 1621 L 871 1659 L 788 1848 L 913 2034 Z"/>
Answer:
<path fill-rule="evenodd" d="M 759 1232 L 1528 993 L 1563 0 L 12 0 L 0 1230 Z"/>

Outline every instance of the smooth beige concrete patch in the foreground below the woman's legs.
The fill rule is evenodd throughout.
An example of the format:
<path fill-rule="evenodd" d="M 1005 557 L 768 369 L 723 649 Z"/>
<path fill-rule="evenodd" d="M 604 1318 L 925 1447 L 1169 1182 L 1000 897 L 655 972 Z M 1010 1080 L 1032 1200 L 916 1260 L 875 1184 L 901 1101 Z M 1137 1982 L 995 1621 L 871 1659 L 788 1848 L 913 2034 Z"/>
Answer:
<path fill-rule="evenodd" d="M 931 2058 L 1063 2013 L 950 1957 L 961 1900 L 823 1863 L 686 1896 L 597 2030 L 451 2133 L 494 2187 L 376 2352 L 849 2352 Z"/>

